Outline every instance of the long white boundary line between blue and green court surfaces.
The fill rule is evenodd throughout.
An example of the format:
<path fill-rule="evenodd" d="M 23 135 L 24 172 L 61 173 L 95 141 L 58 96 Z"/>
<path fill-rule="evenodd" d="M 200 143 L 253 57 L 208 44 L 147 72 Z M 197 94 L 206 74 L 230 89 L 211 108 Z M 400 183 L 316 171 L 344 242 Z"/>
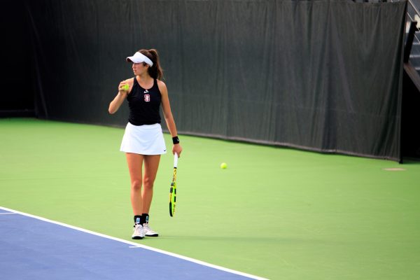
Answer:
<path fill-rule="evenodd" d="M 172 256 L 174 258 L 180 258 L 181 260 L 188 260 L 189 262 L 195 262 L 198 265 L 204 265 L 204 266 L 211 267 L 211 268 L 214 268 L 214 269 L 219 269 L 219 270 L 222 270 L 224 272 L 230 272 L 232 274 L 246 276 L 246 277 L 251 278 L 251 279 L 268 280 L 268 279 L 263 278 L 263 277 L 260 277 L 260 276 L 255 276 L 255 275 L 252 275 L 252 274 L 247 274 L 247 273 L 244 273 L 244 272 L 239 272 L 237 270 L 229 269 L 229 268 L 226 268 L 226 267 L 221 267 L 219 265 L 212 265 L 211 263 L 209 263 L 209 262 L 203 262 L 202 260 L 196 260 L 194 258 L 188 258 L 188 257 L 186 257 L 184 255 L 179 255 L 179 254 L 176 254 L 176 253 L 171 253 L 171 252 L 168 252 L 168 251 L 163 251 L 163 250 L 160 250 L 158 248 L 153 248 L 153 247 L 150 247 L 150 246 L 138 244 L 138 243 L 135 243 L 135 242 L 132 242 L 132 241 L 127 241 L 127 240 L 120 239 L 120 238 L 117 238 L 117 237 L 111 237 L 109 235 L 103 235 L 102 233 L 99 233 L 99 232 L 93 232 L 92 230 L 85 230 L 84 228 L 78 228 L 78 227 L 75 227 L 73 225 L 67 225 L 66 223 L 60 223 L 60 222 L 57 222 L 57 221 L 52 221 L 52 220 L 49 220 L 47 218 L 43 218 L 43 217 L 39 217 L 39 216 L 27 214 L 27 213 L 24 213 L 24 212 L 13 210 L 13 209 L 8 209 L 6 207 L 0 207 L 0 209 L 3 209 L 5 211 L 13 212 L 14 214 L 20 214 L 20 215 L 31 217 L 31 218 L 36 218 L 36 219 L 41 220 L 41 221 L 44 221 L 44 222 L 54 223 L 55 225 L 62 225 L 63 227 L 71 228 L 73 230 L 78 230 L 80 232 L 86 232 L 86 233 L 89 233 L 90 235 L 97 235 L 99 237 L 104 237 L 104 238 L 107 238 L 107 239 L 111 239 L 111 240 L 115 240 L 115 241 L 120 241 L 120 242 L 123 242 L 125 244 L 132 245 L 132 246 L 130 246 L 130 248 L 145 248 L 145 249 L 150 250 L 150 251 L 162 253 L 162 254 L 165 254 L 165 255 L 170 255 L 170 256 Z"/>

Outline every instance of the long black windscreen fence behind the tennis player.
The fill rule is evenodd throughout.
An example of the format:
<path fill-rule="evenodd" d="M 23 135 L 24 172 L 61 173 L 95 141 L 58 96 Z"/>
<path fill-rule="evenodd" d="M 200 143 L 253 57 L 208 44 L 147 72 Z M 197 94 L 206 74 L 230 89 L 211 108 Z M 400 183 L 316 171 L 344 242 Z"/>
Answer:
<path fill-rule="evenodd" d="M 156 48 L 180 134 L 400 160 L 406 7 L 27 1 L 36 113 L 123 127 L 125 57 Z"/>

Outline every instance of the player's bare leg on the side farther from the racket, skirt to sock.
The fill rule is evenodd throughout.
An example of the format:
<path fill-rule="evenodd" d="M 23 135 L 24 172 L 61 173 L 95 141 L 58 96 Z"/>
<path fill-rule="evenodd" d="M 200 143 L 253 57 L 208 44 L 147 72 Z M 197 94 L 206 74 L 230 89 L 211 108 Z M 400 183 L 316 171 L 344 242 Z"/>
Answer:
<path fill-rule="evenodd" d="M 143 165 L 144 155 L 137 153 L 125 153 L 127 158 L 128 170 L 131 179 L 131 202 L 134 216 L 143 213 L 143 203 L 141 200 L 141 168 Z M 150 205 L 150 204 L 149 204 Z"/>

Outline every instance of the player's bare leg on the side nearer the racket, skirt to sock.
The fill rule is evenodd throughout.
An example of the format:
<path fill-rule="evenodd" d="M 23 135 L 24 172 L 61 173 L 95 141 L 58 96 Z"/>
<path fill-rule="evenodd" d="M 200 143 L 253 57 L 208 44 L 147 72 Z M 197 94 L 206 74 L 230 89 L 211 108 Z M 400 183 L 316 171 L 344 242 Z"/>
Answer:
<path fill-rule="evenodd" d="M 160 155 L 144 155 L 144 178 L 141 197 L 143 200 L 143 213 L 148 214 L 153 198 L 153 184 L 160 162 Z"/>

